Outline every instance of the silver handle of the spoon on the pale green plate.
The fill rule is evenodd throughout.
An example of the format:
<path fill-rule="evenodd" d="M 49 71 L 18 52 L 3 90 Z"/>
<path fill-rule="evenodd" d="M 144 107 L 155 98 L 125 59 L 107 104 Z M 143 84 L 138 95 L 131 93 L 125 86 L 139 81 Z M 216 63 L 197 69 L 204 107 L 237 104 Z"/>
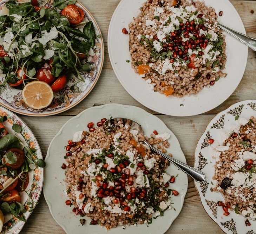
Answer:
<path fill-rule="evenodd" d="M 147 145 L 149 148 L 151 148 L 153 151 L 155 151 L 156 153 L 160 154 L 161 156 L 163 156 L 164 158 L 168 159 L 170 162 L 172 162 L 175 166 L 177 166 L 179 169 L 181 169 L 183 172 L 187 173 L 188 175 L 190 175 L 196 182 L 204 182 L 206 181 L 205 179 L 205 175 L 203 172 L 199 172 L 197 171 L 195 168 L 190 167 L 188 165 L 186 165 L 183 162 L 179 162 L 176 159 L 173 159 L 172 157 L 170 157 L 169 155 L 166 155 L 164 153 L 162 153 L 161 151 L 159 151 L 157 148 L 151 146 L 147 141 L 143 141 L 143 143 L 145 143 L 145 145 Z"/>

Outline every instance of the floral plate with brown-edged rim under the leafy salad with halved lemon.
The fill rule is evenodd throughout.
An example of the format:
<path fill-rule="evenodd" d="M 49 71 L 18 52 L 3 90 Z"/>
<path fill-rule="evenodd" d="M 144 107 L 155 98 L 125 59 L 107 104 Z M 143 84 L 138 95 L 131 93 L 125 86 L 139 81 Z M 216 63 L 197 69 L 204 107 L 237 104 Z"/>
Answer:
<path fill-rule="evenodd" d="M 0 0 L 0 8 L 5 2 L 7 1 Z M 96 35 L 101 35 L 99 26 L 91 13 L 79 2 L 76 2 L 76 5 L 83 9 L 85 13 L 85 20 L 91 20 L 93 22 Z M 103 39 L 102 37 L 96 37 L 95 41 L 96 44 L 93 48 L 94 54 L 91 56 L 91 62 L 96 67 L 94 71 L 91 71 L 89 74 L 81 72 L 80 74 L 83 76 L 85 82 L 79 82 L 78 84 L 76 84 L 77 79 L 73 78 L 71 75 L 65 88 L 59 92 L 55 92 L 50 106 L 40 110 L 35 110 L 28 107 L 22 99 L 21 90 L 14 89 L 9 85 L 0 86 L 1 105 L 10 109 L 11 111 L 29 116 L 55 115 L 76 106 L 92 91 L 102 70 L 104 60 Z"/>

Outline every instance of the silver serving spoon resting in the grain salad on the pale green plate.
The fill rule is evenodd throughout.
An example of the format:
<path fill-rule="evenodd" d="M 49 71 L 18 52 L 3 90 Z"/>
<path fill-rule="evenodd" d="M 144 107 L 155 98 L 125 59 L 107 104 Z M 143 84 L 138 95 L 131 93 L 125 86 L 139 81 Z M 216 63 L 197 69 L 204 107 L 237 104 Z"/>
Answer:
<path fill-rule="evenodd" d="M 113 126 L 117 125 L 118 122 L 122 122 L 123 125 L 131 126 L 130 129 L 137 130 L 138 135 L 140 134 L 140 135 L 144 136 L 144 132 L 143 132 L 142 127 L 138 123 L 136 123 L 135 121 L 130 120 L 130 119 L 124 119 L 124 118 L 109 119 L 109 120 L 104 122 L 103 127 L 104 127 L 105 131 L 111 132 L 111 131 L 113 131 Z M 163 156 L 165 159 L 169 160 L 171 163 L 173 163 L 175 166 L 177 166 L 183 172 L 190 175 L 195 181 L 197 181 L 197 182 L 206 181 L 204 173 L 199 172 L 195 168 L 192 168 L 192 167 L 186 165 L 185 163 L 179 162 L 178 160 L 173 159 L 169 155 L 166 155 L 166 154 L 162 153 L 157 148 L 151 146 L 146 140 L 144 140 L 143 143 L 145 145 L 147 145 L 150 149 L 152 149 L 153 151 L 158 153 L 159 155 Z"/>

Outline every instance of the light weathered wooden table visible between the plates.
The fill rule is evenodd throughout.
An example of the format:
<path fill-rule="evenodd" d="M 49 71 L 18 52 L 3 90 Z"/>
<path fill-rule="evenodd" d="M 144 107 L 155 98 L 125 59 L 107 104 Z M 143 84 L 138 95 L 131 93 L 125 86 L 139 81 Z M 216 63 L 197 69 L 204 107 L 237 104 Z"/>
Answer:
<path fill-rule="evenodd" d="M 194 152 L 198 139 L 204 132 L 208 122 L 220 111 L 230 105 L 247 99 L 256 99 L 255 67 L 256 56 L 249 50 L 247 67 L 243 79 L 236 91 L 222 105 L 209 111 L 208 113 L 193 117 L 172 117 L 152 112 L 134 100 L 123 88 L 116 78 L 107 51 L 107 32 L 109 23 L 120 0 L 81 0 L 80 2 L 87 7 L 99 24 L 105 45 L 105 62 L 103 71 L 97 85 L 93 91 L 79 105 L 57 116 L 49 117 L 26 117 L 21 118 L 27 123 L 39 141 L 42 153 L 46 156 L 47 148 L 58 133 L 61 126 L 72 116 L 77 115 L 84 109 L 106 103 L 121 103 L 124 105 L 134 105 L 153 113 L 162 119 L 165 124 L 177 136 L 186 160 L 190 166 L 194 164 Z M 249 36 L 256 38 L 256 1 L 253 0 L 231 0 L 237 9 L 245 25 Z M 226 12 L 223 12 L 225 14 Z M 228 12 L 227 12 L 228 13 Z M 39 204 L 33 214 L 28 219 L 24 229 L 25 233 L 65 233 L 64 230 L 52 218 L 44 195 L 41 194 Z M 85 230 L 85 233 L 86 230 Z M 224 233 L 221 228 L 206 214 L 200 202 L 194 182 L 189 178 L 188 193 L 185 197 L 183 209 L 173 225 L 166 232 L 170 233 Z"/>

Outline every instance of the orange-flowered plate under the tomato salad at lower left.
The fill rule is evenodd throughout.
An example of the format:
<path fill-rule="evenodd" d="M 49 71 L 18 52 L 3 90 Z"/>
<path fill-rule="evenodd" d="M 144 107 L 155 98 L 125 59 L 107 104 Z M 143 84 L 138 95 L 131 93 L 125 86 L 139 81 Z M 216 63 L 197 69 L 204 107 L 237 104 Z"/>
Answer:
<path fill-rule="evenodd" d="M 17 115 L 13 114 L 11 111 L 8 111 L 3 107 L 0 107 L 0 116 L 7 116 L 7 121 L 5 121 L 3 124 L 9 133 L 14 134 L 14 131 L 12 130 L 13 124 L 18 124 L 21 126 L 22 131 L 20 134 L 18 134 L 19 139 L 24 143 L 24 145 L 27 145 L 29 148 L 37 149 L 35 154 L 38 159 L 42 159 L 42 153 L 38 145 L 37 139 L 35 139 L 34 134 L 31 132 L 26 123 L 24 123 Z M 28 176 L 29 183 L 27 186 L 27 194 L 25 192 L 21 193 L 21 203 L 25 205 L 25 208 L 27 209 L 27 212 L 24 213 L 26 220 L 32 213 L 32 211 L 29 212 L 28 209 L 31 208 L 32 203 L 33 206 L 35 206 L 39 200 L 44 181 L 44 168 L 36 168 L 33 171 L 30 171 L 28 173 Z M 1 234 L 17 234 L 20 232 L 24 225 L 25 222 L 17 218 L 12 218 L 11 215 L 6 215 L 4 227 Z"/>

